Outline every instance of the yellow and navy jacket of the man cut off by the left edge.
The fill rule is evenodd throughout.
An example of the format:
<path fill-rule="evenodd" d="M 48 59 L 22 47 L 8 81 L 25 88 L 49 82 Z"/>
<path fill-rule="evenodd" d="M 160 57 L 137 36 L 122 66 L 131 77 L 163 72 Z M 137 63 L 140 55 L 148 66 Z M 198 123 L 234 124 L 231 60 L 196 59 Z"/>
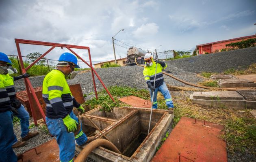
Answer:
<path fill-rule="evenodd" d="M 11 110 L 10 98 L 4 87 L 4 75 L 0 75 L 0 113 Z"/>

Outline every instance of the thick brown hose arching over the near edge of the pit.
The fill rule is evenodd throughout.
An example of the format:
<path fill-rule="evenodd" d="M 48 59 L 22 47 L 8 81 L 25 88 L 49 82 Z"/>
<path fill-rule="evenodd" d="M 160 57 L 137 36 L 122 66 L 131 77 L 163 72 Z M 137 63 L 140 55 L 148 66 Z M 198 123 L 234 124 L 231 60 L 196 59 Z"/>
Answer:
<path fill-rule="evenodd" d="M 106 139 L 95 139 L 88 145 L 86 145 L 82 151 L 78 154 L 77 158 L 74 160 L 74 162 L 84 162 L 87 156 L 93 151 L 95 148 L 102 146 L 106 147 L 107 149 L 114 151 L 116 153 L 121 154 L 121 152 L 113 145 L 113 143 L 109 142 Z"/>

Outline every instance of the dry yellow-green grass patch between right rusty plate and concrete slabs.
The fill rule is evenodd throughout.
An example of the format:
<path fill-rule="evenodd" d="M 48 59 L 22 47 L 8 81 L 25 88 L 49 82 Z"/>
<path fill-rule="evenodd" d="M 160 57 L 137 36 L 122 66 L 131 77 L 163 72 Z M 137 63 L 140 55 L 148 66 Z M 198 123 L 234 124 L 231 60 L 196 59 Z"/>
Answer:
<path fill-rule="evenodd" d="M 174 122 L 176 126 L 182 116 L 205 119 L 225 126 L 225 134 L 221 136 L 227 141 L 227 149 L 231 153 L 234 151 L 254 151 L 256 143 L 256 119 L 246 109 L 233 110 L 222 109 L 200 104 L 191 104 L 184 96 L 173 96 L 174 100 Z"/>

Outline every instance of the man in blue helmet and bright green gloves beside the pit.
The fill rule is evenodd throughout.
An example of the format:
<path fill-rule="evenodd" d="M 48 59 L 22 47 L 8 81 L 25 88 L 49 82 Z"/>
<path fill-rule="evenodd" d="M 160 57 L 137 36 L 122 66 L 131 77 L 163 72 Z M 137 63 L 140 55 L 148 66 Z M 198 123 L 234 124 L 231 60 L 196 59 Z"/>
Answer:
<path fill-rule="evenodd" d="M 78 128 L 78 118 L 72 109 L 76 107 L 81 113 L 85 109 L 76 101 L 69 90 L 65 77 L 74 68 L 79 68 L 77 58 L 71 53 L 61 54 L 56 69 L 49 72 L 43 79 L 43 100 L 46 102 L 46 124 L 50 134 L 56 136 L 59 145 L 61 162 L 73 161 L 75 155 L 75 142 L 81 146 L 95 139 L 82 132 L 82 125 Z"/>

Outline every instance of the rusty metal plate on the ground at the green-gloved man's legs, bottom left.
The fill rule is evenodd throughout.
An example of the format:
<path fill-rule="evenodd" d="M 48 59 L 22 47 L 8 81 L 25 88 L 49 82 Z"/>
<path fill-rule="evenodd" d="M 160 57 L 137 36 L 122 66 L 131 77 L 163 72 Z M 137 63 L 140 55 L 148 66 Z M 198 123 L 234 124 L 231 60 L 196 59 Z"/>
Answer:
<path fill-rule="evenodd" d="M 18 162 L 59 162 L 59 146 L 55 139 L 23 153 Z"/>

